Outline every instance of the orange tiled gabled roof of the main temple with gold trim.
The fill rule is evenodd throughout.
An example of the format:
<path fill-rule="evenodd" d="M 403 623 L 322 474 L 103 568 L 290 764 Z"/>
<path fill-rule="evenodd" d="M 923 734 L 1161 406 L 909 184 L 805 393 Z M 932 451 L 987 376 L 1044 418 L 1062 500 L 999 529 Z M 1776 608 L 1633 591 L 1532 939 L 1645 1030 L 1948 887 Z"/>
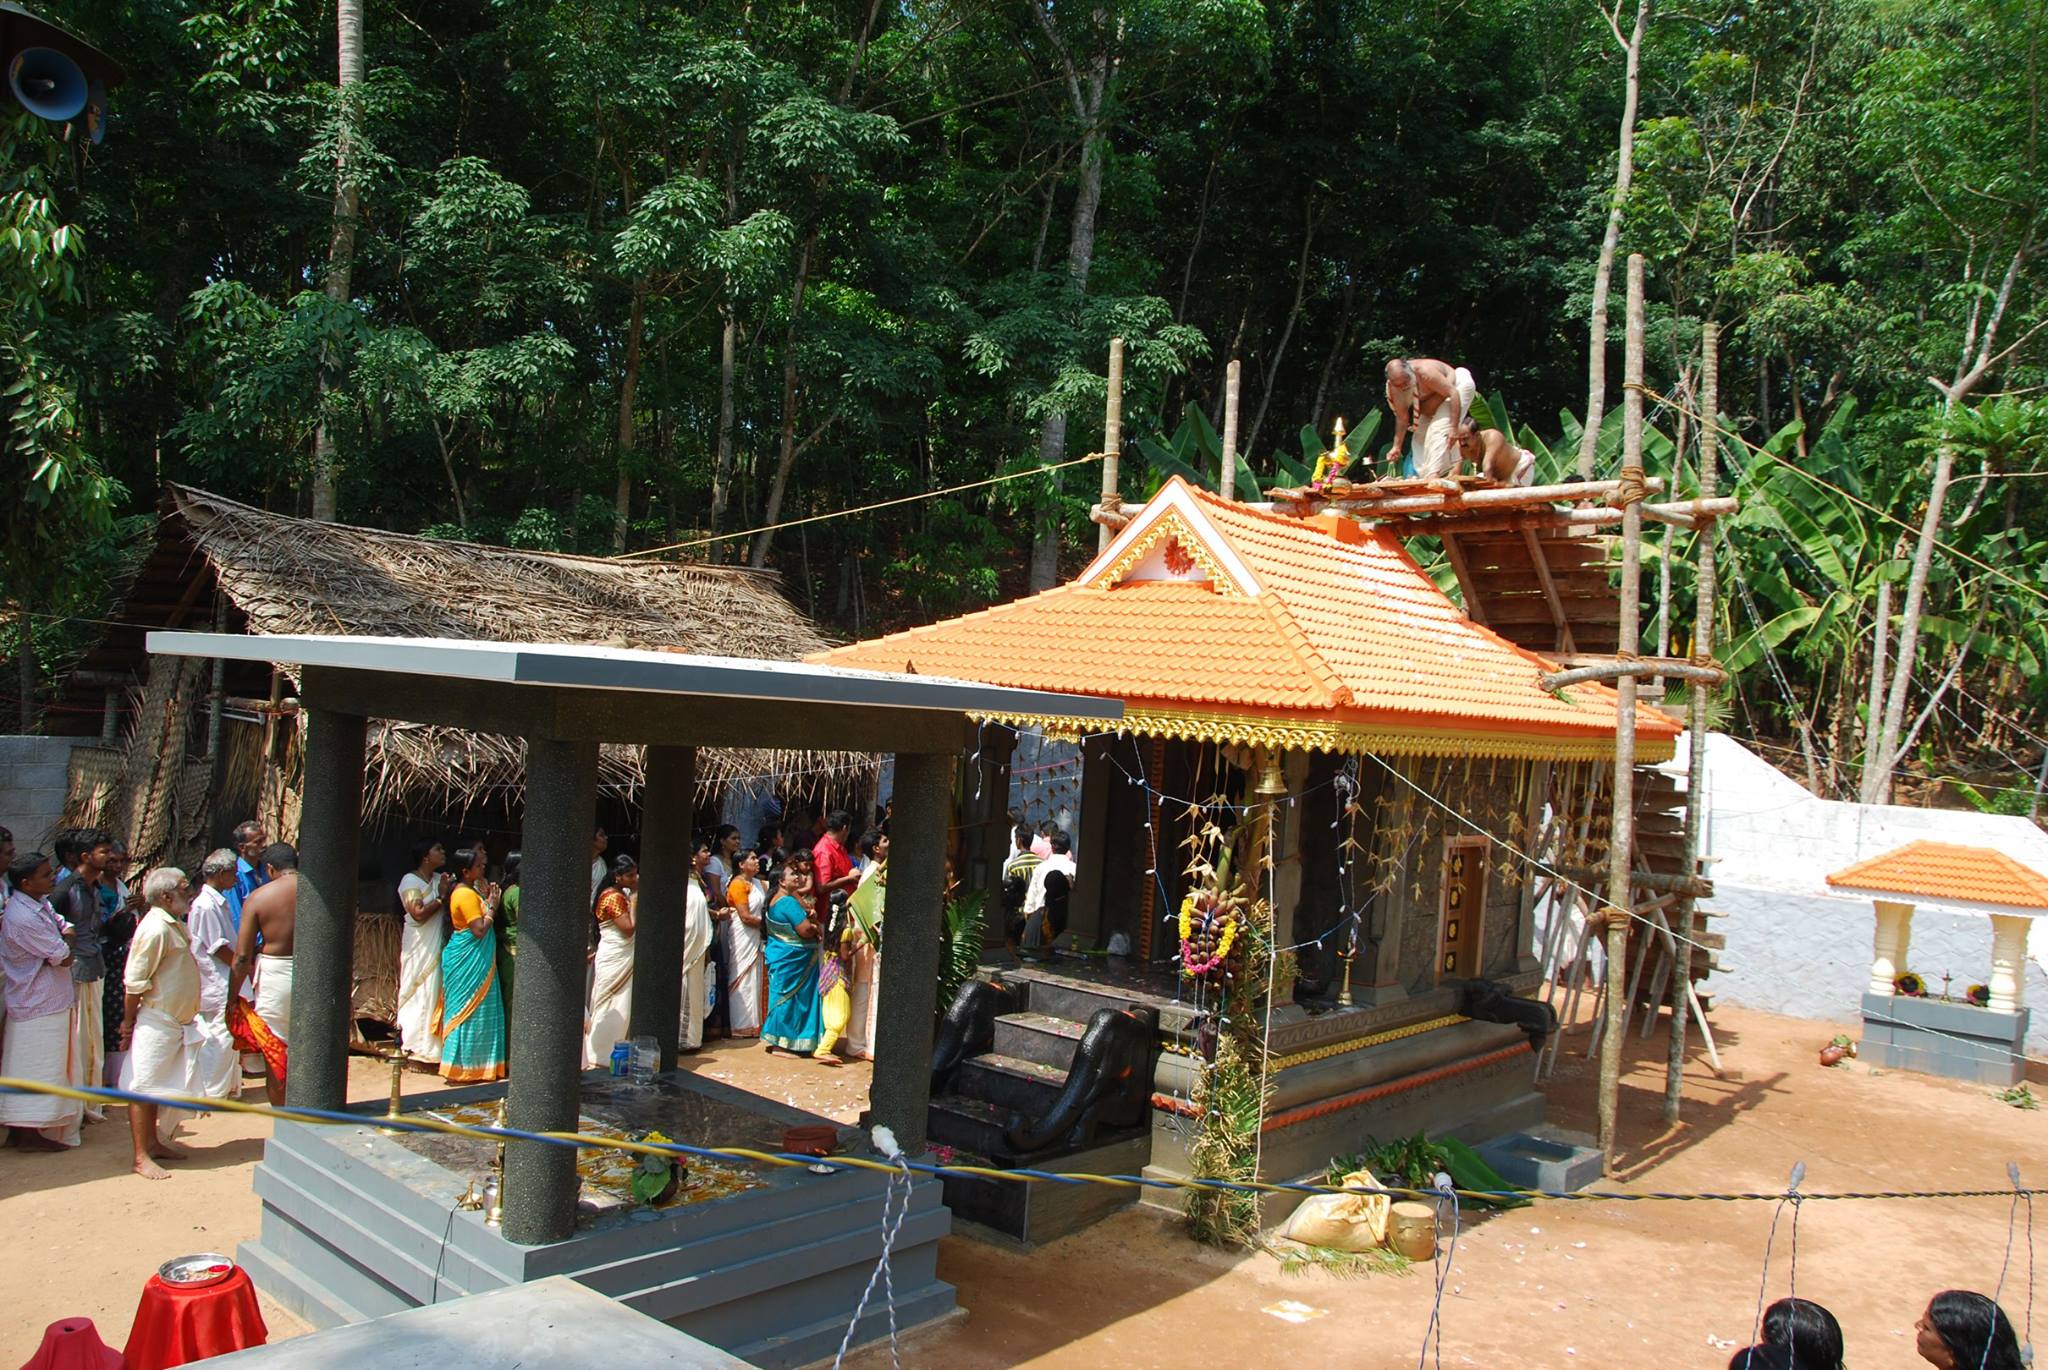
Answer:
<path fill-rule="evenodd" d="M 1612 750 L 1618 698 L 1597 684 L 1542 690 L 1552 666 L 1466 618 L 1393 532 L 1268 514 L 1180 479 L 1067 586 L 811 659 L 1106 694 L 1141 715 L 1452 733 L 1475 745 L 1446 752 L 1481 756 L 1509 754 L 1479 745 L 1501 737 Z M 1647 758 L 1679 733 L 1655 709 L 1636 727 Z"/>

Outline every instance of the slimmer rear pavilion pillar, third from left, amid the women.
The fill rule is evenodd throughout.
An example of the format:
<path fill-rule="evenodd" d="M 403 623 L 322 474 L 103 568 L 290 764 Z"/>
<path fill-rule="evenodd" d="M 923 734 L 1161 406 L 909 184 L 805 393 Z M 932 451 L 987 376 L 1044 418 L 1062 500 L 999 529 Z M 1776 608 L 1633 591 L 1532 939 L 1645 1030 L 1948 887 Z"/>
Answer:
<path fill-rule="evenodd" d="M 682 915 L 690 885 L 690 807 L 696 747 L 647 747 L 641 788 L 641 897 L 633 917 L 633 1036 L 662 1044 L 676 1069 L 682 1028 Z"/>

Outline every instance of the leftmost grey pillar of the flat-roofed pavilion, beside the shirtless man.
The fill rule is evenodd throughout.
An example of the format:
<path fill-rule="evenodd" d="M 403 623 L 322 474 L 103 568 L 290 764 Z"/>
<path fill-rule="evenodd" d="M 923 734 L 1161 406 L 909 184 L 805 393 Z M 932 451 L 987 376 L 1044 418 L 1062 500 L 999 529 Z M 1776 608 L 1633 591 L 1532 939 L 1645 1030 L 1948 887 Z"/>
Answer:
<path fill-rule="evenodd" d="M 285 1028 L 291 1042 L 285 1102 L 295 1108 L 348 1108 L 362 729 L 360 715 L 305 711 L 299 909 L 291 944 L 291 1024 Z"/>

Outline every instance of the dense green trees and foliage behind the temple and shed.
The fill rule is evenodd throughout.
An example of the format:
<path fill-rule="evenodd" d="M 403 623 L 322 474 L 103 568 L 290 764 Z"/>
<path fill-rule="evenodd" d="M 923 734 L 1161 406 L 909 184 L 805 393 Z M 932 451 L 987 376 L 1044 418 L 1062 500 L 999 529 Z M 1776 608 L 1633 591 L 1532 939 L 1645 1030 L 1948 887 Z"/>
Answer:
<path fill-rule="evenodd" d="M 80 612 L 162 479 L 309 510 L 315 434 L 344 520 L 598 553 L 1028 471 L 1098 446 L 1112 336 L 1124 432 L 1196 471 L 1229 358 L 1260 479 L 1356 428 L 1391 352 L 1473 367 L 1554 469 L 1577 446 L 1630 8 L 342 2 L 346 94 L 334 4 L 45 6 L 129 82 L 102 145 L 0 145 L 10 610 Z M 2025 809 L 2048 733 L 2044 10 L 1645 12 L 1620 248 L 1651 262 L 1661 469 L 1692 483 L 1714 319 L 1755 444 L 1722 444 L 1726 719 L 1829 793 L 1939 461 L 1903 752 Z M 1094 485 L 694 551 L 872 633 L 1071 569 Z"/>

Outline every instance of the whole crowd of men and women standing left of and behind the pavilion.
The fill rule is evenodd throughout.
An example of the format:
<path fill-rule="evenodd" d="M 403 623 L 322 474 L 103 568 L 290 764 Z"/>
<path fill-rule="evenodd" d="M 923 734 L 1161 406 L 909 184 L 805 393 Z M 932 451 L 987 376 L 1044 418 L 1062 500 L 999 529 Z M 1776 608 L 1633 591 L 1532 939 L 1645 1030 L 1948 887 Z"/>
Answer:
<path fill-rule="evenodd" d="M 748 848 L 731 823 L 694 842 L 678 907 L 641 901 L 639 862 L 590 864 L 584 1065 L 629 1036 L 633 944 L 682 922 L 682 1053 L 760 1038 L 821 1065 L 870 1059 L 889 885 L 887 819 L 854 840 L 844 811 L 772 825 Z M 129 885 L 129 854 L 100 829 L 63 829 L 51 852 L 16 852 L 0 829 L 0 1075 L 49 1085 L 236 1098 L 244 1073 L 285 1102 L 299 856 L 242 823 L 197 879 L 156 866 Z M 451 850 L 453 848 L 453 850 Z M 397 883 L 397 1034 L 451 1083 L 510 1071 L 520 854 L 489 879 L 481 838 L 422 842 Z M 184 1114 L 129 1108 L 135 1173 L 164 1180 Z M 66 1151 L 104 1120 L 96 1102 L 0 1094 L 6 1145 Z"/>

